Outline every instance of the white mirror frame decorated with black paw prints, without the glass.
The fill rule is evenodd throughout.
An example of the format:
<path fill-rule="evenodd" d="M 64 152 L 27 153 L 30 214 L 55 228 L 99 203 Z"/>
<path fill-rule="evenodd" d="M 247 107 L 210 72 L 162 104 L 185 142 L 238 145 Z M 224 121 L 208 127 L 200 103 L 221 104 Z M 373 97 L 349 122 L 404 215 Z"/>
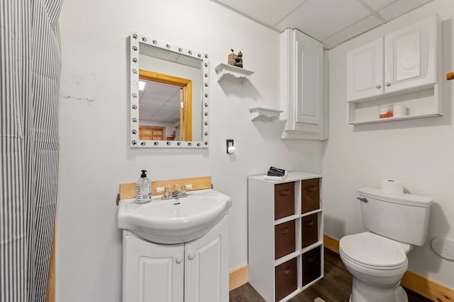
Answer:
<path fill-rule="evenodd" d="M 148 37 L 131 32 L 131 147 L 134 148 L 208 148 L 209 146 L 209 60 L 208 54 L 195 52 L 167 42 L 149 40 Z M 202 138 L 203 141 L 150 141 L 139 139 L 139 43 L 170 52 L 184 54 L 201 60 L 202 76 Z M 195 89 L 195 87 L 194 87 Z M 193 100 L 194 101 L 194 100 Z"/>

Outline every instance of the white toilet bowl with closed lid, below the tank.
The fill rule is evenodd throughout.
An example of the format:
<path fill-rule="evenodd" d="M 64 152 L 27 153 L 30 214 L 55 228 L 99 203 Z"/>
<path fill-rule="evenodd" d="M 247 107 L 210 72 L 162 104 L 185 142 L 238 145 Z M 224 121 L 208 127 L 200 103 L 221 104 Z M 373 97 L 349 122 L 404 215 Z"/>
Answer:
<path fill-rule="evenodd" d="M 339 243 L 341 260 L 353 275 L 351 302 L 406 302 L 399 285 L 408 267 L 411 245 L 365 232 Z"/>

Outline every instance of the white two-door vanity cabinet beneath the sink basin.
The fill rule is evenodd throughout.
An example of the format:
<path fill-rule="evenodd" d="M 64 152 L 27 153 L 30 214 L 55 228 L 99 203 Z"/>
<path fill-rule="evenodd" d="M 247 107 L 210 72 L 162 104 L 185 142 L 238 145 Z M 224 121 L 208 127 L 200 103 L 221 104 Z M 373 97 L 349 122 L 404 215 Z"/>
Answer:
<path fill-rule="evenodd" d="M 123 302 L 228 301 L 228 215 L 188 243 L 150 243 L 123 231 Z"/>

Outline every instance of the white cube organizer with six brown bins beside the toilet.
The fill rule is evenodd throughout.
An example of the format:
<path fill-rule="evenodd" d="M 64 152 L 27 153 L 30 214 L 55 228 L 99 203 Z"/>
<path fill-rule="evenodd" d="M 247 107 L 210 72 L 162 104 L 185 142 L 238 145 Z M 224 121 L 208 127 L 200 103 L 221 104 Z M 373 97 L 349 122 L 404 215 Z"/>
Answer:
<path fill-rule="evenodd" d="M 323 277 L 321 175 L 248 178 L 249 283 L 266 301 L 287 301 Z"/>

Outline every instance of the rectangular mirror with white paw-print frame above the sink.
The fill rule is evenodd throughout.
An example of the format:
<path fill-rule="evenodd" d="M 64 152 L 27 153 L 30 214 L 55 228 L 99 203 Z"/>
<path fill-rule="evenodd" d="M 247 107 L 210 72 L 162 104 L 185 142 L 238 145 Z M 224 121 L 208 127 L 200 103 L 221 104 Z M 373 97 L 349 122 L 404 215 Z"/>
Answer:
<path fill-rule="evenodd" d="M 131 147 L 208 148 L 208 55 L 131 33 Z"/>

